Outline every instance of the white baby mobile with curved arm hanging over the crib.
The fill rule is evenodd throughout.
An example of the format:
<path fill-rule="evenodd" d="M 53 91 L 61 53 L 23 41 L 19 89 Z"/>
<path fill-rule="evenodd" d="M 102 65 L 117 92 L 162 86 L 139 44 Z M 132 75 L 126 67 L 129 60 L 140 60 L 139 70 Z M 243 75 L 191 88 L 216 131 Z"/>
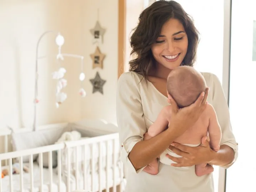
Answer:
<path fill-rule="evenodd" d="M 38 99 L 38 60 L 45 58 L 45 57 L 38 57 L 38 47 L 39 47 L 39 42 L 41 41 L 42 37 L 47 34 L 47 33 L 57 33 L 57 37 L 55 38 L 55 42 L 58 46 L 58 54 L 57 54 L 57 60 L 58 62 L 60 60 L 64 60 L 64 57 L 73 57 L 73 58 L 79 58 L 81 59 L 81 73 L 79 75 L 79 80 L 81 81 L 81 88 L 79 89 L 78 93 L 81 97 L 85 97 L 86 96 L 86 92 L 85 90 L 82 88 L 82 82 L 85 79 L 85 74 L 84 74 L 84 57 L 81 55 L 75 55 L 75 54 L 67 54 L 67 53 L 62 53 L 61 52 L 61 48 L 64 44 L 64 37 L 60 34 L 60 32 L 56 32 L 56 31 L 46 31 L 44 32 L 41 37 L 39 38 L 38 42 L 37 42 L 37 48 L 36 48 L 36 82 L 35 82 L 35 99 L 34 99 L 34 125 L 33 128 L 34 130 L 36 130 L 36 104 L 39 103 L 39 99 Z M 57 80 L 57 85 L 56 85 L 56 107 L 59 108 L 59 105 L 61 103 L 63 103 L 66 98 L 67 98 L 67 94 L 65 92 L 63 92 L 63 88 L 67 86 L 67 80 L 64 79 L 64 75 L 66 73 L 66 69 L 59 66 L 59 69 L 57 71 L 54 71 L 52 73 L 52 79 Z"/>

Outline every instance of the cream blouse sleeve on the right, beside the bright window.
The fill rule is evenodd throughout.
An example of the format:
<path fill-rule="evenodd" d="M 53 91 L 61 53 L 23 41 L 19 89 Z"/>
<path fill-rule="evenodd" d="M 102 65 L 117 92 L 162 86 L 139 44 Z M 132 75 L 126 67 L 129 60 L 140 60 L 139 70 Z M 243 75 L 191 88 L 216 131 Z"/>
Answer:
<path fill-rule="evenodd" d="M 238 157 L 238 144 L 236 143 L 234 134 L 232 132 L 232 127 L 230 123 L 229 107 L 226 101 L 222 85 L 220 84 L 219 79 L 216 75 L 211 75 L 212 80 L 212 90 L 213 90 L 213 107 L 216 111 L 217 118 L 222 129 L 222 139 L 220 145 L 230 146 L 235 153 L 234 160 L 225 166 L 222 166 L 224 169 L 230 167 Z"/>

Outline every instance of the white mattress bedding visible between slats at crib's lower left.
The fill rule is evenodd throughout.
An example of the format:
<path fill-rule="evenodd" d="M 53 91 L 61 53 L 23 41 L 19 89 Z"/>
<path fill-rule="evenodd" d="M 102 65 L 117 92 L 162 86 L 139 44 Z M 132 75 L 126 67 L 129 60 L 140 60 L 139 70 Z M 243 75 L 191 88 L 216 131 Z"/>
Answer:
<path fill-rule="evenodd" d="M 24 164 L 29 167 L 28 164 Z M 6 167 L 2 167 L 2 169 L 5 169 Z M 37 164 L 37 162 L 34 162 L 33 164 L 33 174 L 34 174 L 34 192 L 39 192 L 40 189 L 40 168 Z M 9 181 L 9 176 L 5 176 L 2 178 L 2 192 L 9 192 L 10 191 L 10 181 Z M 24 192 L 30 192 L 30 172 L 25 173 L 23 172 L 23 188 Z M 43 169 L 43 192 L 50 192 L 50 177 L 49 177 L 49 170 L 48 169 Z M 12 187 L 13 187 L 13 192 L 20 192 L 20 174 L 14 174 L 12 175 Z M 61 191 L 65 192 L 66 191 L 66 186 L 65 183 L 62 181 L 61 183 Z M 52 187 L 52 192 L 58 192 L 58 174 L 57 170 L 53 169 L 53 187 Z"/>

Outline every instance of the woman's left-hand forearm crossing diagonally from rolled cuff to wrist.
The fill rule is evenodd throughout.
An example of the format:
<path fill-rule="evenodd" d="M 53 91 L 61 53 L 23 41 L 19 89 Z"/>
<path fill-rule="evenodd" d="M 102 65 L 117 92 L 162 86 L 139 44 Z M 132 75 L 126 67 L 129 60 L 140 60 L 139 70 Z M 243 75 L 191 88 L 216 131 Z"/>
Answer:
<path fill-rule="evenodd" d="M 168 128 L 149 140 L 143 140 L 136 143 L 128 155 L 135 170 L 148 165 L 160 156 L 160 154 L 163 153 L 164 150 L 178 137 L 175 135 L 176 134 Z"/>

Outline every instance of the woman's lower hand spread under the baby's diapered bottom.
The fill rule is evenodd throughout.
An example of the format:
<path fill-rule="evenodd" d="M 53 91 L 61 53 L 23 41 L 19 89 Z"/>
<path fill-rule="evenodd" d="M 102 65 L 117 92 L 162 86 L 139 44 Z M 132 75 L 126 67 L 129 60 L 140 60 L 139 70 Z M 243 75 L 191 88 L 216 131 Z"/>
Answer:
<path fill-rule="evenodd" d="M 201 163 L 209 163 L 213 159 L 214 153 L 216 153 L 210 148 L 207 137 L 203 137 L 201 145 L 197 147 L 189 147 L 179 143 L 173 144 L 174 146 L 170 145 L 169 149 L 177 155 L 182 156 L 182 158 L 175 158 L 169 154 L 166 155 L 169 159 L 177 162 L 177 164 L 171 164 L 174 167 L 188 167 Z"/>

